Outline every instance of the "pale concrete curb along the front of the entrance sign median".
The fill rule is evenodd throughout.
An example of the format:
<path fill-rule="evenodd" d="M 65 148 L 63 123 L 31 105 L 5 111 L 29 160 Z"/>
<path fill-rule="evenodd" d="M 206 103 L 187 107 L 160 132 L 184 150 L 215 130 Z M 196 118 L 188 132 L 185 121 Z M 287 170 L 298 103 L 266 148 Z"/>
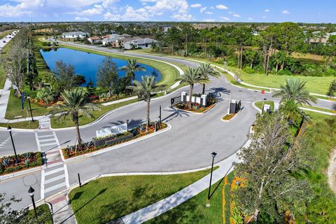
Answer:
<path fill-rule="evenodd" d="M 164 130 L 160 130 L 160 131 L 158 131 L 158 132 L 154 132 L 153 134 L 147 134 L 147 135 L 145 135 L 144 137 L 139 137 L 139 138 L 137 138 L 137 139 L 134 139 L 134 140 L 131 140 L 131 141 L 127 141 L 127 142 L 124 142 L 124 143 L 122 143 L 122 144 L 117 144 L 117 145 L 115 145 L 115 146 L 110 146 L 110 147 L 108 147 L 108 148 L 104 148 L 104 149 L 102 149 L 102 150 L 94 151 L 94 152 L 92 152 L 92 153 L 86 153 L 86 154 L 83 154 L 83 155 L 78 155 L 78 156 L 76 156 L 76 157 L 74 157 L 74 158 L 69 158 L 69 159 L 64 159 L 64 156 L 62 155 L 63 152 L 62 152 L 62 149 L 61 149 L 62 160 L 63 160 L 63 162 L 65 162 L 65 163 L 69 163 L 69 162 L 75 162 L 75 161 L 77 161 L 77 160 L 82 160 L 83 158 L 90 158 L 90 157 L 92 157 L 92 156 L 94 156 L 94 155 L 99 155 L 99 154 L 102 154 L 102 153 L 107 153 L 107 152 L 109 152 L 109 151 L 113 151 L 113 150 L 116 150 L 116 149 L 118 149 L 118 148 L 123 148 L 123 147 L 125 147 L 125 146 L 130 146 L 131 144 L 135 144 L 135 143 L 137 143 L 137 142 L 139 142 L 139 141 L 144 141 L 145 139 L 149 139 L 149 138 L 154 137 L 154 136 L 156 136 L 156 135 L 158 135 L 158 134 L 162 134 L 162 133 L 164 133 L 164 132 L 168 132 L 168 131 L 171 130 L 171 129 L 172 129 L 172 125 L 167 124 L 167 127 L 166 127 Z"/>

